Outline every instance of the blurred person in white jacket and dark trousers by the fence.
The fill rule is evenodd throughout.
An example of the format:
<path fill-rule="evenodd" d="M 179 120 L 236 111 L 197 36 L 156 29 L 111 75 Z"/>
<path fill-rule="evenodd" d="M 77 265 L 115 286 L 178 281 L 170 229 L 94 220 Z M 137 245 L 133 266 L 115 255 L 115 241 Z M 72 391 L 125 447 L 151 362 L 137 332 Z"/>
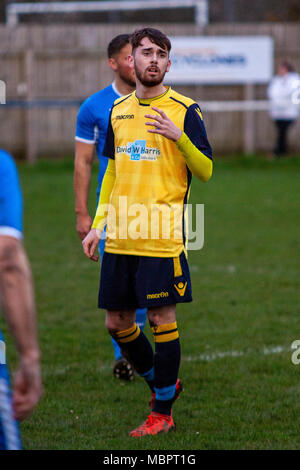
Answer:
<path fill-rule="evenodd" d="M 300 75 L 294 67 L 288 62 L 280 64 L 278 75 L 271 80 L 267 90 L 270 117 L 277 129 L 274 148 L 277 157 L 287 153 L 288 130 L 299 117 L 299 88 Z"/>

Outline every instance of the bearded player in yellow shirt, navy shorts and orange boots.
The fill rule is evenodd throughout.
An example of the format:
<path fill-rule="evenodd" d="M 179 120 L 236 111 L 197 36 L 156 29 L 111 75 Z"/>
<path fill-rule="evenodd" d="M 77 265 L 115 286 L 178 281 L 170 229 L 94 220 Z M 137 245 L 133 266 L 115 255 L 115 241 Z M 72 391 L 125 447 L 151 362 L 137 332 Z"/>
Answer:
<path fill-rule="evenodd" d="M 175 428 L 172 404 L 181 391 L 176 304 L 191 302 L 186 259 L 191 177 L 212 174 L 212 152 L 199 106 L 163 80 L 171 43 L 154 28 L 131 37 L 136 91 L 115 101 L 104 154 L 109 159 L 92 229 L 83 240 L 90 259 L 107 222 L 99 308 L 106 328 L 152 392 L 152 411 L 131 431 L 141 437 Z M 155 354 L 134 322 L 147 307 Z"/>

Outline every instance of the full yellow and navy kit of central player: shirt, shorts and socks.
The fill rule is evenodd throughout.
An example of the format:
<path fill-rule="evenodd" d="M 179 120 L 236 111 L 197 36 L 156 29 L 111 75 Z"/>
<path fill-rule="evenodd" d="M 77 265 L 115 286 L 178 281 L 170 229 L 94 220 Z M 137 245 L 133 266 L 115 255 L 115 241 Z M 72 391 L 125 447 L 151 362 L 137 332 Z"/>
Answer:
<path fill-rule="evenodd" d="M 153 113 L 153 105 L 182 130 L 177 142 L 148 132 L 145 114 Z M 135 93 L 117 100 L 105 153 L 110 161 L 93 223 L 93 228 L 103 229 L 103 209 L 109 203 L 99 307 L 122 310 L 191 301 L 184 207 L 192 174 L 207 181 L 212 172 L 211 148 L 198 105 L 171 88 L 152 100 L 139 100 Z M 156 217 L 155 210 L 161 208 L 174 211 L 168 220 L 168 237 Z M 144 213 L 139 220 L 144 232 L 140 237 L 130 236 L 138 209 Z M 164 219 L 165 215 L 161 222 Z M 181 356 L 177 322 L 151 327 L 155 354 L 136 324 L 114 337 L 152 391 L 152 411 L 170 416 Z"/>

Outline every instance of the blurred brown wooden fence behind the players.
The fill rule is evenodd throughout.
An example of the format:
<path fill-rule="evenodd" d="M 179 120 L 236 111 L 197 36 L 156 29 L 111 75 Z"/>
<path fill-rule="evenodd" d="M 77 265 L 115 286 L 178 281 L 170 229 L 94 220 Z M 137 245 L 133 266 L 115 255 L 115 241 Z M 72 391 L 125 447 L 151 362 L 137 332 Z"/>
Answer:
<path fill-rule="evenodd" d="M 17 157 L 71 155 L 80 102 L 113 78 L 106 47 L 129 25 L 0 26 L 0 144 Z M 268 35 L 274 38 L 275 64 L 292 62 L 300 71 L 299 25 L 158 24 L 168 36 Z M 166 82 L 167 83 L 167 82 Z M 275 127 L 268 116 L 266 85 L 189 85 L 176 91 L 199 101 L 214 154 L 272 151 Z M 300 119 L 290 131 L 290 149 L 300 151 Z"/>

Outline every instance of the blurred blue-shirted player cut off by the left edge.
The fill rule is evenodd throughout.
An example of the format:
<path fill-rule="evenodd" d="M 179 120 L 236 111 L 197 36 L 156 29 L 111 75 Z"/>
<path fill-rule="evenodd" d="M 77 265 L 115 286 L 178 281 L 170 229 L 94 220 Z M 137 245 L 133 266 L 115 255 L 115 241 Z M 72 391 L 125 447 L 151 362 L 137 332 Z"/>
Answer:
<path fill-rule="evenodd" d="M 0 331 L 0 450 L 19 450 L 17 420 L 26 418 L 41 395 L 39 347 L 29 263 L 23 248 L 22 193 L 12 157 L 0 149 L 0 297 L 19 354 L 10 392 L 5 343 Z"/>

